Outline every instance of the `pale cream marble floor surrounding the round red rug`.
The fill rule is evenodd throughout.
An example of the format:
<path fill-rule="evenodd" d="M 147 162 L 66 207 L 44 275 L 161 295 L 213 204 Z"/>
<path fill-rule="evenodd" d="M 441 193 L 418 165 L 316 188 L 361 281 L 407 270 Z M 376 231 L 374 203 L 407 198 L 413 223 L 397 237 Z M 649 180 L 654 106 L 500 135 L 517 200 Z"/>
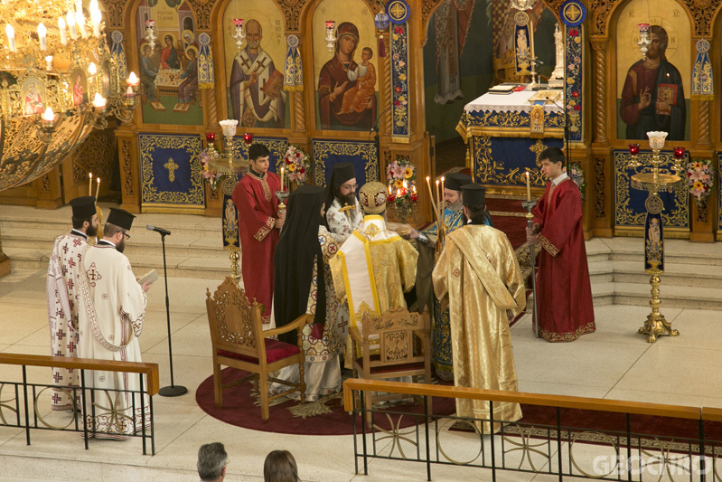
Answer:
<path fill-rule="evenodd" d="M 131 259 L 132 262 L 132 259 Z M 0 481 L 9 480 L 197 480 L 198 447 L 221 441 L 230 453 L 229 481 L 262 480 L 263 460 L 273 449 L 288 449 L 305 481 L 426 480 L 423 464 L 373 460 L 370 475 L 355 475 L 352 436 L 289 436 L 226 425 L 195 403 L 195 389 L 211 374 L 211 342 L 205 292 L 220 283 L 209 279 L 169 279 L 175 382 L 189 393 L 155 397 L 156 454 L 141 455 L 140 440 L 91 441 L 84 450 L 77 434 L 0 428 Z M 48 354 L 45 270 L 19 269 L 0 279 L 0 352 Z M 722 313 L 669 308 L 662 313 L 680 337 L 649 345 L 636 334 L 648 307 L 595 308 L 597 331 L 571 344 L 535 339 L 530 319 L 513 326 L 519 389 L 637 402 L 722 408 Z M 163 283 L 149 292 L 149 310 L 140 338 L 145 362 L 160 365 L 161 386 L 170 383 Z M 0 381 L 18 380 L 17 367 L 0 365 Z M 29 370 L 31 382 L 45 383 L 47 369 Z M 271 411 L 273 417 L 273 409 Z M 478 449 L 478 440 L 445 434 L 445 446 L 460 453 Z M 488 442 L 488 440 L 487 440 Z M 483 470 L 432 468 L 434 480 L 491 479 Z M 534 474 L 498 472 L 501 481 L 544 481 Z M 549 478 L 550 480 L 550 478 Z M 567 480 L 567 478 L 565 478 Z"/>

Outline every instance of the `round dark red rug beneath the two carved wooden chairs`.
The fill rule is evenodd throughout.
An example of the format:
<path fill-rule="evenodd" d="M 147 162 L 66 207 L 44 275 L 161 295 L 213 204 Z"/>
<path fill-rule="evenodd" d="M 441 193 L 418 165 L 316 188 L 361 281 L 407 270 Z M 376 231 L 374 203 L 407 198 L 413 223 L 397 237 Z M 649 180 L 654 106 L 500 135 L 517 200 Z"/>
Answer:
<path fill-rule="evenodd" d="M 230 383 L 233 380 L 243 378 L 248 373 L 236 370 L 235 368 L 225 368 L 221 372 L 221 380 L 223 383 Z M 270 407 L 270 418 L 267 421 L 261 419 L 260 406 L 254 404 L 257 397 L 251 392 L 252 386 L 249 382 L 240 383 L 238 385 L 226 388 L 223 391 L 223 407 L 216 407 L 213 396 L 213 376 L 206 378 L 195 393 L 195 400 L 202 411 L 205 411 L 214 419 L 230 423 L 244 429 L 268 431 L 275 433 L 289 433 L 296 435 L 352 435 L 353 424 L 355 419 L 356 430 L 361 433 L 361 417 L 353 417 L 343 411 L 343 401 L 341 396 L 332 398 L 323 403 L 330 411 L 319 415 L 296 417 L 289 408 L 298 407 L 299 403 L 294 401 L 282 402 L 278 405 Z M 437 416 L 450 415 L 456 411 L 454 399 L 436 398 L 432 402 L 433 413 Z M 323 411 L 323 407 L 321 407 Z M 394 425 L 398 423 L 398 415 L 393 415 L 394 411 L 404 413 L 421 414 L 424 407 L 421 404 L 408 402 L 404 404 L 396 404 L 389 408 L 387 412 L 394 421 Z M 404 415 L 398 428 L 406 428 L 415 425 L 417 417 Z M 374 415 L 374 424 L 381 429 L 391 430 L 389 417 L 383 414 Z M 418 419 L 419 423 L 423 423 L 422 419 Z"/>

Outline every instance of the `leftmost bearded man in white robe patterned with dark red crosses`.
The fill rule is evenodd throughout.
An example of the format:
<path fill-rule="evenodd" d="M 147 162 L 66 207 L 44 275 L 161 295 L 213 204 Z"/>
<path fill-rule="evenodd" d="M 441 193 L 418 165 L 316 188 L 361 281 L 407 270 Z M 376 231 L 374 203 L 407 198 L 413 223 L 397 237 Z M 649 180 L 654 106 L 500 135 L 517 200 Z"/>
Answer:
<path fill-rule="evenodd" d="M 98 233 L 95 197 L 76 197 L 70 200 L 70 206 L 72 231 L 55 239 L 45 283 L 52 356 L 76 356 L 80 307 L 78 275 L 82 272 L 80 253 L 88 246 L 88 237 Z M 73 409 L 73 390 L 70 387 L 80 386 L 78 375 L 77 370 L 52 368 L 52 384 L 59 387 L 52 390 L 52 410 Z"/>

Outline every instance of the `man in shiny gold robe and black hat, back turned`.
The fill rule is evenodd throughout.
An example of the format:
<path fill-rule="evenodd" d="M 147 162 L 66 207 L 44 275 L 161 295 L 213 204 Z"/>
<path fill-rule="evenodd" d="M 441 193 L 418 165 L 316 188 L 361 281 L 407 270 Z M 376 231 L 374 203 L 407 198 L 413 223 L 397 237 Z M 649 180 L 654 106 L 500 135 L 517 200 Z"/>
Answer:
<path fill-rule="evenodd" d="M 471 223 L 447 235 L 433 274 L 436 297 L 450 309 L 455 385 L 516 392 L 509 321 L 526 307 L 524 279 L 506 235 L 482 224 L 483 200 L 469 211 L 470 188 L 464 186 L 464 214 Z M 488 419 L 489 402 L 457 399 L 456 415 Z M 520 418 L 518 403 L 494 403 L 494 421 Z M 484 422 L 484 433 L 489 429 Z"/>

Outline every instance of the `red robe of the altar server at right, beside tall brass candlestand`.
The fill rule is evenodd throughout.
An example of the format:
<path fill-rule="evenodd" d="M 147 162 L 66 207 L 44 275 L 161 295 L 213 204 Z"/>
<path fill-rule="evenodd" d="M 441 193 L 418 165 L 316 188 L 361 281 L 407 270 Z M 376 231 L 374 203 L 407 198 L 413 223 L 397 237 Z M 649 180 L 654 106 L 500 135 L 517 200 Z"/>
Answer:
<path fill-rule="evenodd" d="M 570 342 L 595 331 L 592 287 L 582 234 L 582 197 L 568 177 L 547 184 L 532 212 L 539 232 L 539 336 Z"/>

